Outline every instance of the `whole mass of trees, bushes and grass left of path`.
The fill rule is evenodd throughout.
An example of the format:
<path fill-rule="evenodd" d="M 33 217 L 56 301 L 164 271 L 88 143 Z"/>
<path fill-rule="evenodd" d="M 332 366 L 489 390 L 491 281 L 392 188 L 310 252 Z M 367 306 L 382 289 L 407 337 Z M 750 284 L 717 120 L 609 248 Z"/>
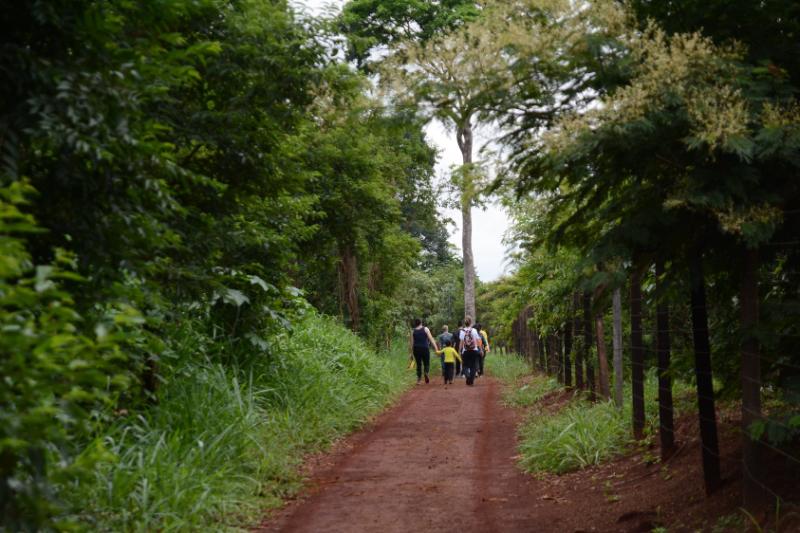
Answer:
<path fill-rule="evenodd" d="M 401 282 L 457 264 L 423 122 L 285 2 L 0 15 L 4 526 L 187 528 L 285 490 L 401 370 L 306 302 L 377 346 Z"/>

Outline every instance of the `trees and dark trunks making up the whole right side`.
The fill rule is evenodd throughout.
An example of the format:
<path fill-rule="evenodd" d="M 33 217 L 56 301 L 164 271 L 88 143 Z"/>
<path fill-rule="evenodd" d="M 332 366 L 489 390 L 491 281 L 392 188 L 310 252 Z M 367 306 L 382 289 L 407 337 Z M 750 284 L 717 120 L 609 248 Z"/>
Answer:
<path fill-rule="evenodd" d="M 657 405 L 662 458 L 675 449 L 675 380 L 693 383 L 709 493 L 715 402 L 741 401 L 745 505 L 774 501 L 765 465 L 800 466 L 800 12 L 592 4 L 519 3 L 539 15 L 518 23 L 539 36 L 525 46 L 513 15 L 500 18 L 512 64 L 539 76 L 505 86 L 511 112 L 498 103 L 495 187 L 517 268 L 483 289 L 479 313 L 566 386 L 619 408 L 627 396 L 635 437 Z"/>

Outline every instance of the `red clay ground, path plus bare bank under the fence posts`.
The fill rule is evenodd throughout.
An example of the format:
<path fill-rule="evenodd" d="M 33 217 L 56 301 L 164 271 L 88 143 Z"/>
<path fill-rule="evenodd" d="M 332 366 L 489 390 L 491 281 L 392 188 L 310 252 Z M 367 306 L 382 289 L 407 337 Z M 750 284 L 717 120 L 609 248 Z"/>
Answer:
<path fill-rule="evenodd" d="M 482 378 L 445 389 L 422 385 L 335 451 L 309 463 L 300 497 L 258 531 L 634 532 L 668 526 L 710 531 L 739 497 L 735 421 L 720 424 L 723 489 L 706 498 L 691 419 L 678 423 L 678 453 L 655 449 L 563 476 L 536 479 L 515 464 L 521 413 Z M 543 405 L 562 404 L 564 395 Z M 546 409 L 545 412 L 550 411 Z M 547 416 L 547 415 L 544 415 Z M 724 416 L 723 416 L 724 418 Z M 788 524 L 787 524 L 788 525 Z M 794 531 L 783 529 L 785 531 Z"/>

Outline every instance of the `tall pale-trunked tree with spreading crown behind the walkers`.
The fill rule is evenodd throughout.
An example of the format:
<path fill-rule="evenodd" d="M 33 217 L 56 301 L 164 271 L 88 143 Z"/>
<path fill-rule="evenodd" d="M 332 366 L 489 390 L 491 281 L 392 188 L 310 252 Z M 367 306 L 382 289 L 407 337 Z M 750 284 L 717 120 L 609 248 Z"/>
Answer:
<path fill-rule="evenodd" d="M 587 6 L 593 9 L 586 9 Z M 565 51 L 590 46 L 590 36 L 618 27 L 612 2 L 578 5 L 564 0 L 484 2 L 473 22 L 427 40 L 395 43 L 381 77 L 396 98 L 413 102 L 455 136 L 462 167 L 453 174 L 460 191 L 464 261 L 464 307 L 475 316 L 472 212 L 485 174 L 474 161 L 475 129 L 496 123 L 535 129 L 567 107 L 587 79 L 561 64 Z M 605 24 L 598 25 L 598 20 Z M 612 22 L 613 21 L 613 22 Z M 565 80 L 572 80 L 567 86 Z"/>

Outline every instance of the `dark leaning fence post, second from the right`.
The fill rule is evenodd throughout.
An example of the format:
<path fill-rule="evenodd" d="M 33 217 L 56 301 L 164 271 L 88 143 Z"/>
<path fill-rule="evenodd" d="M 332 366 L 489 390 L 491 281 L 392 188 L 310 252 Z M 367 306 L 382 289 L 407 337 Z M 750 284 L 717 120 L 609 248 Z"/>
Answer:
<path fill-rule="evenodd" d="M 703 449 L 703 477 L 705 478 L 706 494 L 711 494 L 719 488 L 721 477 L 717 413 L 714 405 L 714 383 L 711 373 L 711 344 L 708 340 L 705 277 L 700 250 L 690 252 L 689 283 L 691 286 L 692 336 L 694 338 L 700 440 Z"/>

